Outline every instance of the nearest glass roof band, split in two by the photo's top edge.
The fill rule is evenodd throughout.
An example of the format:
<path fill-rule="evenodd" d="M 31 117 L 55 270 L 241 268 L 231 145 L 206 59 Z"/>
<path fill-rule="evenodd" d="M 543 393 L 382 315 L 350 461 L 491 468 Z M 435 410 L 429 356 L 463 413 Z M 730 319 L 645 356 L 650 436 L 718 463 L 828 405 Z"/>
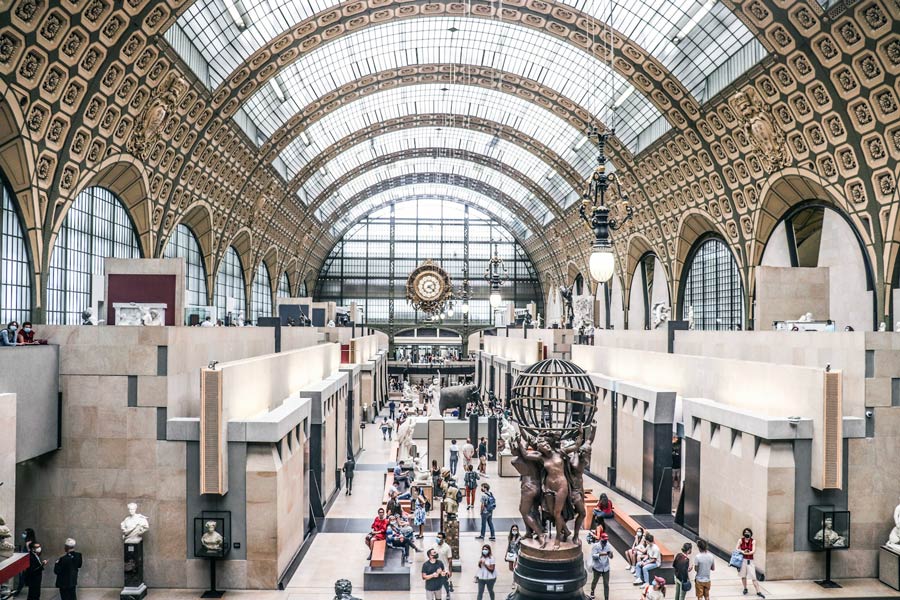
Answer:
<path fill-rule="evenodd" d="M 559 3 L 605 22 L 614 0 Z M 177 24 L 207 63 L 208 85 L 214 89 L 271 39 L 337 5 L 336 0 L 197 0 Z M 717 0 L 615 1 L 612 15 L 615 29 L 692 91 L 743 46 L 755 42 L 740 19 Z"/>

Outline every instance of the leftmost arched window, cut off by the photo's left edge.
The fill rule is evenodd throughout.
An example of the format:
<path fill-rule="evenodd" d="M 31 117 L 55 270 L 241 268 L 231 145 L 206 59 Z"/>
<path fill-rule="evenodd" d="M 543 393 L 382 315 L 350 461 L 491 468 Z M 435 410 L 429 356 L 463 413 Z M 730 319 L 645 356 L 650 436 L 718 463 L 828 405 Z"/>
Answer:
<path fill-rule="evenodd" d="M 31 318 L 28 249 L 6 182 L 0 177 L 0 323 Z"/>

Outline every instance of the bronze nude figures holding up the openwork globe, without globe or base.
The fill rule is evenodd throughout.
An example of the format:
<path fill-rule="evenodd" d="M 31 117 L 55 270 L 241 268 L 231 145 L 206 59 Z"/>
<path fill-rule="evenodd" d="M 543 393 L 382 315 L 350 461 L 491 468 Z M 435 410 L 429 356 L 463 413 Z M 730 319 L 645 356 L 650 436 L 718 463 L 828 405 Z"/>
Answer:
<path fill-rule="evenodd" d="M 570 539 L 580 544 L 578 533 L 586 514 L 584 469 L 591 461 L 596 429 L 580 425 L 574 439 L 557 433 L 529 435 L 522 432 L 512 444 L 512 464 L 521 475 L 519 513 L 525 523 L 525 538 L 547 545 L 545 523 L 556 530 L 553 548 Z M 575 519 L 574 531 L 566 522 Z"/>

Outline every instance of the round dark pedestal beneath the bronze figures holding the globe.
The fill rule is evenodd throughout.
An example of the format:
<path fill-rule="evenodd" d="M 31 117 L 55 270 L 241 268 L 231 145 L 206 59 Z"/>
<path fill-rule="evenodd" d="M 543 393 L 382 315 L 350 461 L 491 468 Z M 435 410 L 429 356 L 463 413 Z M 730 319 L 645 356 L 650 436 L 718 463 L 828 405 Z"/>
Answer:
<path fill-rule="evenodd" d="M 566 542 L 554 550 L 552 539 L 544 548 L 535 540 L 522 540 L 513 579 L 517 589 L 508 600 L 584 600 L 582 548 Z"/>

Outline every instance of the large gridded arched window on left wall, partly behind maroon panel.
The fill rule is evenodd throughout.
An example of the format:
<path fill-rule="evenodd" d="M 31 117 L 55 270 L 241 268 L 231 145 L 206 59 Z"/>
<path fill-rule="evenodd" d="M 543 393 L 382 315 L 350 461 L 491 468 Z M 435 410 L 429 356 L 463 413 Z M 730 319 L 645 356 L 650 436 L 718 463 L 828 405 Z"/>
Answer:
<path fill-rule="evenodd" d="M 140 257 L 134 224 L 115 194 L 101 187 L 90 187 L 78 194 L 50 258 L 47 322 L 80 324 L 81 312 L 95 300 L 91 294 L 92 289 L 97 289 L 93 279 L 103 276 L 103 260 Z"/>

